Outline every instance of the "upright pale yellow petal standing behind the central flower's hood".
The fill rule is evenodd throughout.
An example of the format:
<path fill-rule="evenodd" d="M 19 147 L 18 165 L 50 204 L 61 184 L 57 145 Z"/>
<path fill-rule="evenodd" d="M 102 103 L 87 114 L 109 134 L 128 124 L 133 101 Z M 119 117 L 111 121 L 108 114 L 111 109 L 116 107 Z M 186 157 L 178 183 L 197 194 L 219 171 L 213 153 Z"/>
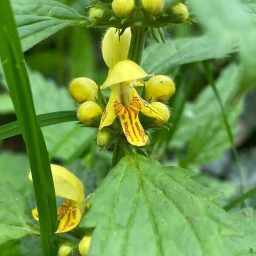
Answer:
<path fill-rule="evenodd" d="M 131 42 L 131 29 L 119 37 L 116 28 L 110 28 L 102 40 L 102 55 L 106 65 L 111 69 L 117 62 L 124 61 L 128 57 Z"/>

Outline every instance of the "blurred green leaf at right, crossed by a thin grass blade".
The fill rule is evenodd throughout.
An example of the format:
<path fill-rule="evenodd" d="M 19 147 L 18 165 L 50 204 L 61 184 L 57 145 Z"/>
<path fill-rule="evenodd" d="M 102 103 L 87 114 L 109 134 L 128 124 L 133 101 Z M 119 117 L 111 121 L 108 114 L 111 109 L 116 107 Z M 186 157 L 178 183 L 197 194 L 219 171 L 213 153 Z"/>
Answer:
<path fill-rule="evenodd" d="M 232 110 L 238 104 L 238 102 L 233 102 L 233 96 L 239 87 L 238 77 L 239 67 L 235 64 L 230 64 L 221 72 L 220 77 L 216 81 L 217 90 L 226 109 Z M 212 88 L 207 86 L 201 91 L 195 102 L 186 103 L 180 118 L 179 127 L 170 145 L 175 148 L 182 147 L 187 141 L 191 140 L 193 134 L 206 129 L 211 120 L 215 123 L 212 123 L 213 132 L 216 123 L 221 125 L 221 108 L 212 92 Z"/>

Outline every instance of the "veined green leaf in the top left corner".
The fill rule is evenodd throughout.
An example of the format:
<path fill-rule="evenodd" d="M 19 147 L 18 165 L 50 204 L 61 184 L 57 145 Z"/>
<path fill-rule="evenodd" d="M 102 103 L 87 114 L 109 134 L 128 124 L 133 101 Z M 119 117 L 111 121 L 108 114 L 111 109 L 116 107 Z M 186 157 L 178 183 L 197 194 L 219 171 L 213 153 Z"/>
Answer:
<path fill-rule="evenodd" d="M 52 0 L 12 0 L 23 51 L 68 26 L 85 25 L 86 17 Z"/>

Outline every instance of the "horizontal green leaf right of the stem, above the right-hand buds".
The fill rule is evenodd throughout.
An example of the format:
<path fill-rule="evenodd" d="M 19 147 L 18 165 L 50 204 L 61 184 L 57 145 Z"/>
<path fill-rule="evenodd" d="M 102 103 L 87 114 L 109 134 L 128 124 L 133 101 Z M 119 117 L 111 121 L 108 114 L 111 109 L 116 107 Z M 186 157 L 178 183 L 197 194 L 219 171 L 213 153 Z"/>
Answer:
<path fill-rule="evenodd" d="M 151 44 L 145 48 L 142 67 L 148 73 L 169 75 L 175 67 L 182 64 L 223 58 L 234 52 L 234 47 L 235 44 L 230 43 L 226 48 L 219 49 L 208 36 L 169 39 L 166 44 Z"/>

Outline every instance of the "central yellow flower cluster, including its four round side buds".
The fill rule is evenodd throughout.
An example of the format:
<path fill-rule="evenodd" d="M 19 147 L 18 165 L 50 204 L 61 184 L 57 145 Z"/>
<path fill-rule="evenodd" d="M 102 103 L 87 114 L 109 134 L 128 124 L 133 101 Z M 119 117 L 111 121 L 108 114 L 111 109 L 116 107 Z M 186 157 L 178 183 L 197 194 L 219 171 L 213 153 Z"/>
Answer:
<path fill-rule="evenodd" d="M 139 112 L 153 118 L 156 125 L 163 125 L 169 119 L 169 109 L 162 102 L 166 102 L 173 95 L 175 86 L 168 76 L 153 76 L 146 82 L 142 81 L 150 75 L 127 59 L 130 41 L 130 29 L 126 29 L 119 36 L 115 28 L 110 28 L 103 38 L 102 55 L 109 71 L 100 89 L 111 88 L 104 111 L 96 103 L 98 87 L 91 79 L 73 80 L 70 94 L 78 103 L 82 103 L 77 113 L 81 122 L 89 125 L 93 122 L 93 117 L 102 115 L 99 124 L 99 130 L 102 130 L 112 125 L 118 116 L 128 143 L 143 146 L 148 143 L 149 137 L 140 123 Z M 145 86 L 147 101 L 138 94 L 138 86 Z"/>

